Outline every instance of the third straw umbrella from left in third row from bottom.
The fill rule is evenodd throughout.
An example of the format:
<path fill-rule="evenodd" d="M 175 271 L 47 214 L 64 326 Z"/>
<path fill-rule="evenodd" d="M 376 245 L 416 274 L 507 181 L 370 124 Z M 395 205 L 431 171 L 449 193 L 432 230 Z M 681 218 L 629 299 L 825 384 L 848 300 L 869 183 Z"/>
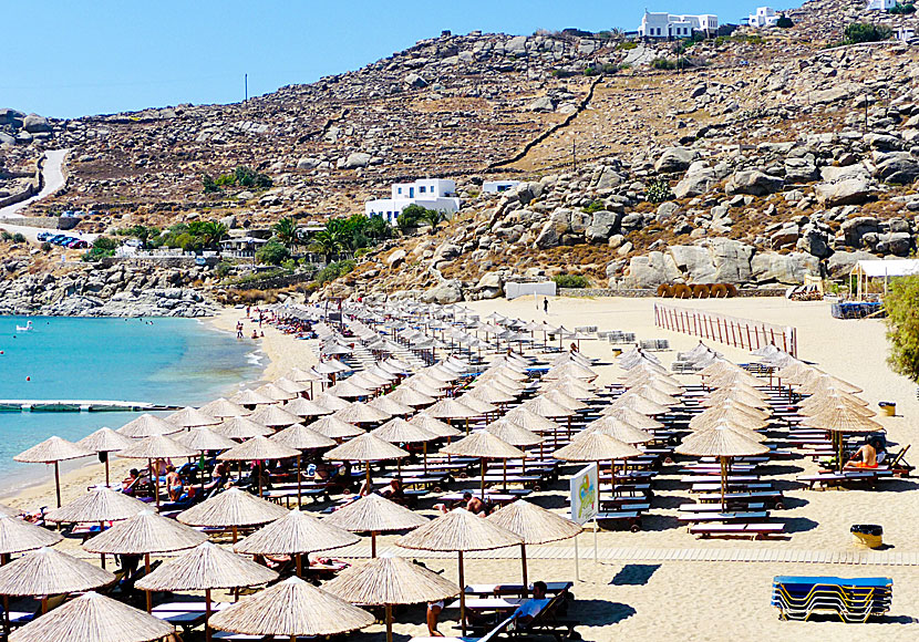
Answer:
<path fill-rule="evenodd" d="M 233 547 L 246 555 L 291 555 L 297 561 L 297 577 L 303 577 L 302 555 L 351 546 L 357 535 L 332 526 L 302 510 L 291 510 Z M 307 557 L 309 566 L 309 557 Z"/>

